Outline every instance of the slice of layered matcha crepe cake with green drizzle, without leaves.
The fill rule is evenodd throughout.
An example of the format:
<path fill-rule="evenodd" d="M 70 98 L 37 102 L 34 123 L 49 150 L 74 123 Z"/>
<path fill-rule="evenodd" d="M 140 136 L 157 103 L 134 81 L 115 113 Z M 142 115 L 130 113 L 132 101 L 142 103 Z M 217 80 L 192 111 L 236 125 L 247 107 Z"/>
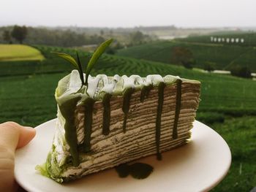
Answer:
<path fill-rule="evenodd" d="M 37 166 L 45 176 L 63 183 L 187 143 L 200 82 L 98 74 L 83 86 L 81 75 L 73 70 L 56 88 L 53 145 Z"/>

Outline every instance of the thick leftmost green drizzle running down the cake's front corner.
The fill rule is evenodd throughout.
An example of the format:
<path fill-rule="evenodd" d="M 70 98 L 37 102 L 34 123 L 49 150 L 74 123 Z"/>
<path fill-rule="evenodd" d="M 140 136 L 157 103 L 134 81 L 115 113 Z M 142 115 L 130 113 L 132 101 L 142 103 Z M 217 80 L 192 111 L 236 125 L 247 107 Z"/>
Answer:
<path fill-rule="evenodd" d="M 78 158 L 78 138 L 77 131 L 75 127 L 75 109 L 78 104 L 80 97 L 75 97 L 65 101 L 63 104 L 59 104 L 59 110 L 61 115 L 65 119 L 64 129 L 65 129 L 65 139 L 70 149 L 69 152 L 72 156 L 72 164 L 74 166 L 79 165 Z"/>

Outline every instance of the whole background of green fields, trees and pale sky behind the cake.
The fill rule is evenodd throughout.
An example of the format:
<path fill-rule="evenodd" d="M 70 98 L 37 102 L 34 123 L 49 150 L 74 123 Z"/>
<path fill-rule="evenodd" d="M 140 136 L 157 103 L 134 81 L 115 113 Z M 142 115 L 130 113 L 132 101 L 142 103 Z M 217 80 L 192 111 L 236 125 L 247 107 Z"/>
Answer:
<path fill-rule="evenodd" d="M 20 2 L 14 7 L 10 6 L 11 1 L 3 4 L 7 11 L 0 13 L 1 18 L 5 18 L 0 20 L 0 123 L 13 120 L 38 126 L 56 118 L 54 91 L 72 66 L 51 52 L 75 56 L 78 51 L 85 64 L 99 43 L 113 38 L 114 42 L 92 74 L 173 74 L 200 80 L 197 120 L 225 139 L 233 159 L 227 177 L 212 191 L 255 188 L 256 13 L 251 8 L 253 1 L 227 1 L 228 4 L 200 0 L 193 4 L 185 0 L 177 4 L 153 0 L 148 4 L 109 1 L 108 13 L 103 12 L 103 2 L 97 1 L 87 4 L 91 6 L 89 13 L 73 4 L 78 10 L 71 7 L 70 14 L 64 11 L 69 6 L 67 2 L 59 1 L 58 9 L 53 9 L 54 3 L 48 4 L 45 9 L 49 12 L 45 12 L 39 7 L 43 4 L 39 1 L 39 5 L 34 4 L 31 18 L 26 15 L 29 8 L 20 8 Z M 82 1 L 75 2 L 82 4 Z M 222 7 L 214 7 L 213 2 L 217 5 L 222 2 Z M 23 6 L 29 3 L 33 5 L 26 0 Z M 229 7 L 230 4 L 233 6 Z M 133 12 L 135 18 L 127 20 L 130 14 L 127 11 L 120 15 L 121 7 L 126 5 L 129 5 L 127 9 L 137 7 Z M 175 15 L 151 14 L 152 7 L 154 11 L 161 11 L 175 6 L 176 12 L 171 9 Z M 96 7 L 99 9 L 93 9 Z M 113 9 L 108 10 L 110 7 Z M 11 14 L 12 11 L 15 14 Z M 78 11 L 80 15 L 76 15 Z M 178 12 L 181 15 L 177 15 Z M 241 18 L 235 16 L 238 12 Z M 99 19 L 91 23 L 78 19 L 79 16 L 93 20 L 95 15 Z M 148 19 L 150 17 L 154 19 Z"/>

